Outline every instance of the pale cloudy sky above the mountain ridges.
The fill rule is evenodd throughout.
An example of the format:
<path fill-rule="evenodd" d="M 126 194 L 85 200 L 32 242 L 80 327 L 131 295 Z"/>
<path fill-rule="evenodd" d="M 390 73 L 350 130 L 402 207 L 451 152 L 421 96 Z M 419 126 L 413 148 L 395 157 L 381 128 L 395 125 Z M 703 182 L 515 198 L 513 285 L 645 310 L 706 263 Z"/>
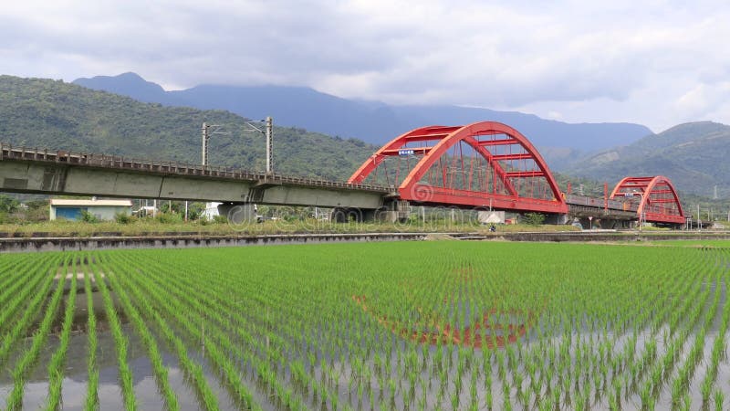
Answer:
<path fill-rule="evenodd" d="M 24 0 L 3 5 L 0 38 L 0 74 L 22 77 L 134 71 L 167 90 L 308 86 L 654 132 L 730 124 L 725 0 Z"/>

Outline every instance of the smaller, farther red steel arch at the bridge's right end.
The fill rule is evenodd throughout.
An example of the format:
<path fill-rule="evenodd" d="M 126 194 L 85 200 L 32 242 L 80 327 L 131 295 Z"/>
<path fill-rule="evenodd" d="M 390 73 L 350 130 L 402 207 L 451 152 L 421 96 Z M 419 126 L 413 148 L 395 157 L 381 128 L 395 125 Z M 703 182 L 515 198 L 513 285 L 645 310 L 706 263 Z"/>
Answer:
<path fill-rule="evenodd" d="M 663 175 L 626 177 L 610 194 L 611 199 L 625 200 L 636 196 L 640 197 L 636 210 L 640 221 L 643 216 L 645 221 L 654 223 L 684 223 L 682 204 L 669 178 Z"/>

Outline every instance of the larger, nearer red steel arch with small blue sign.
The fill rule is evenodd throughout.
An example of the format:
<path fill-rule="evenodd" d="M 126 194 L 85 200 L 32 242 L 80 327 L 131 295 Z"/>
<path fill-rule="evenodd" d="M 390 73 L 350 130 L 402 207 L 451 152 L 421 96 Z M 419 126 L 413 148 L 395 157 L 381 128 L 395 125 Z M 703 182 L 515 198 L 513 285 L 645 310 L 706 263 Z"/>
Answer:
<path fill-rule="evenodd" d="M 464 161 L 464 156 L 459 159 L 464 144 L 474 155 L 468 160 L 471 164 Z M 481 121 L 465 126 L 428 126 L 406 132 L 371 155 L 348 182 L 362 184 L 377 173 L 386 159 L 403 156 L 420 159 L 397 184 L 401 200 L 425 205 L 491 206 L 504 210 L 568 213 L 568 205 L 545 160 L 524 135 L 506 124 Z M 474 157 L 481 157 L 478 160 L 486 164 L 483 171 L 474 172 Z M 447 163 L 445 168 L 449 173 L 460 174 L 462 178 L 458 184 L 449 181 L 444 163 Z M 423 181 L 439 166 L 443 184 Z M 488 181 L 480 180 L 476 184 L 477 177 Z"/>

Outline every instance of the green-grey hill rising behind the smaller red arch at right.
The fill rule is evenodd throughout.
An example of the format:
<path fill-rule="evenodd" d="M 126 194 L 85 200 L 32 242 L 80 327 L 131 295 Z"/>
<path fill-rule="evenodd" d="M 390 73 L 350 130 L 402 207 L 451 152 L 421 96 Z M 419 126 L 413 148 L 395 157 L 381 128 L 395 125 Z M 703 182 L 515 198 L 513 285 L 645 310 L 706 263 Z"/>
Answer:
<path fill-rule="evenodd" d="M 607 181 L 662 174 L 695 195 L 730 196 L 730 126 L 710 121 L 680 124 L 627 146 L 589 156 L 566 173 Z"/>

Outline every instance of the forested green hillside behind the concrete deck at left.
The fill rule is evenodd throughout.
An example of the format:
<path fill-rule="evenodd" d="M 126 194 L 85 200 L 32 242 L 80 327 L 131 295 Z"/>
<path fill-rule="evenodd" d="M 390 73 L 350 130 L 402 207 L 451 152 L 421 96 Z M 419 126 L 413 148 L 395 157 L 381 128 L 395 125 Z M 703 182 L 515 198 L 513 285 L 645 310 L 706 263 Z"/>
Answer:
<path fill-rule="evenodd" d="M 245 132 L 246 119 L 234 113 L 164 107 L 62 81 L 0 76 L 0 141 L 14 145 L 200 163 L 203 121 L 224 124 L 226 132 L 211 138 L 211 164 L 266 168 L 264 137 Z M 301 128 L 275 127 L 274 134 L 276 171 L 300 176 L 345 180 L 377 149 Z"/>

